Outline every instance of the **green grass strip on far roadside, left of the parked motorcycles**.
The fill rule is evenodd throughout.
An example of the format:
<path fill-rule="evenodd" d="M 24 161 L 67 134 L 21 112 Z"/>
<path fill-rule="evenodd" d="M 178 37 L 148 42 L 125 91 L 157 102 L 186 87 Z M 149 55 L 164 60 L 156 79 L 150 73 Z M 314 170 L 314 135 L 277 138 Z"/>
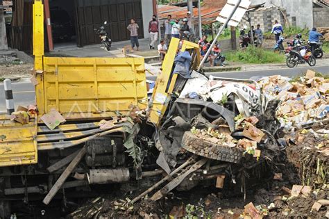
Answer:
<path fill-rule="evenodd" d="M 284 63 L 285 55 L 271 50 L 249 46 L 244 50 L 229 51 L 226 60 L 246 64 Z"/>

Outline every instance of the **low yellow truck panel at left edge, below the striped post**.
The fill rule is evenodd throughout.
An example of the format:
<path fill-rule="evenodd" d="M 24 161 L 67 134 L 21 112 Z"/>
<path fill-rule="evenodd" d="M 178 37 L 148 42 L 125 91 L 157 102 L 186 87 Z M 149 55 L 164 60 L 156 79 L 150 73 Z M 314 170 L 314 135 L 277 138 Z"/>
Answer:
<path fill-rule="evenodd" d="M 0 166 L 37 163 L 36 122 L 19 124 L 0 117 Z"/>

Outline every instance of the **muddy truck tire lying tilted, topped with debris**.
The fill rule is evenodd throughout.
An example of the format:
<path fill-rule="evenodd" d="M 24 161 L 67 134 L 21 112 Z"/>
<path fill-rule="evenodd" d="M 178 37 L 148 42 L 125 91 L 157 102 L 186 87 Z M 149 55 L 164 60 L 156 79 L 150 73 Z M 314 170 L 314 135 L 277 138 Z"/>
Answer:
<path fill-rule="evenodd" d="M 191 131 L 184 133 L 182 145 L 184 149 L 193 154 L 230 163 L 239 163 L 243 154 L 242 149 L 211 143 L 195 136 Z"/>

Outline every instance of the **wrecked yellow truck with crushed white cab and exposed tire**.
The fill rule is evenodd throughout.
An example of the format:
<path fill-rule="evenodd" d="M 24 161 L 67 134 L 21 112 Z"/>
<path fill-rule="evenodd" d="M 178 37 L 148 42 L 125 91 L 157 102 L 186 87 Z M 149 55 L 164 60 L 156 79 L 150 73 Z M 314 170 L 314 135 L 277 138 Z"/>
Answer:
<path fill-rule="evenodd" d="M 270 174 L 278 101 L 268 101 L 255 81 L 196 72 L 199 45 L 173 38 L 148 98 L 143 58 L 46 57 L 43 24 L 36 0 L 37 108 L 0 118 L 2 217 L 22 200 L 42 200 L 47 216 L 51 202 L 75 206 L 99 184 L 144 189 L 133 203 L 201 182 L 245 192 L 245 177 Z"/>

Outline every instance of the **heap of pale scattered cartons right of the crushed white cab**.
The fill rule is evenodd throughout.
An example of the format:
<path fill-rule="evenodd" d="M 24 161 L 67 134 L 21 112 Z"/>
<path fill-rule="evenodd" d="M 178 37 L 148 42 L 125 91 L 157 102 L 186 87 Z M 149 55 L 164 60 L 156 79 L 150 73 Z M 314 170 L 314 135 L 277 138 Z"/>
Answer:
<path fill-rule="evenodd" d="M 268 99 L 282 102 L 276 113 L 282 127 L 301 128 L 326 117 L 329 109 L 328 79 L 307 70 L 299 79 L 267 76 L 258 83 Z"/>

